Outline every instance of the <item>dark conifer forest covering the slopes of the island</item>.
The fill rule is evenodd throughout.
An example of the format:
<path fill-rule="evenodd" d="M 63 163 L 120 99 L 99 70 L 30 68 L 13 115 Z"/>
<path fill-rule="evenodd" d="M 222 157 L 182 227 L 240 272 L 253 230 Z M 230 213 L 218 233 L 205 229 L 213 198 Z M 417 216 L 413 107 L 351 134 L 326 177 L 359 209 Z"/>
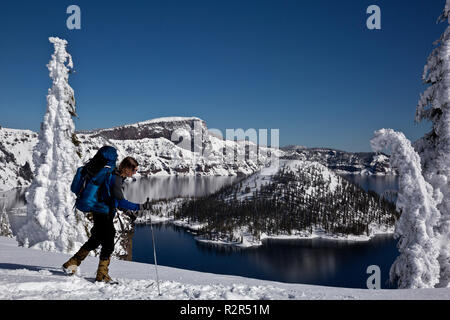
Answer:
<path fill-rule="evenodd" d="M 248 180 L 247 180 L 248 181 Z M 331 181 L 314 168 L 281 169 L 269 182 L 254 188 L 237 183 L 218 192 L 184 202 L 174 209 L 174 218 L 203 223 L 199 233 L 208 239 L 242 241 L 236 229 L 245 227 L 256 239 L 292 234 L 293 230 L 344 235 L 370 234 L 369 225 L 393 226 L 398 218 L 395 204 L 373 191 L 339 179 L 334 192 Z M 307 190 L 313 192 L 308 193 Z"/>

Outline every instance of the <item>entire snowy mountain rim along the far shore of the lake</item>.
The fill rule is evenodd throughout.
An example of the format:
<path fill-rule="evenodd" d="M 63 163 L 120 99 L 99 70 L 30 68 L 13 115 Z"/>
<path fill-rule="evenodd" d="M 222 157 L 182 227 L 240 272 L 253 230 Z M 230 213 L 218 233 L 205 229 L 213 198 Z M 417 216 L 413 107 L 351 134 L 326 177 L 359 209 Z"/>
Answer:
<path fill-rule="evenodd" d="M 317 161 L 338 173 L 389 174 L 389 158 L 375 153 L 288 146 L 256 148 L 209 133 L 196 117 L 157 118 L 107 129 L 78 131 L 82 161 L 105 145 L 117 148 L 119 159 L 135 157 L 142 175 L 245 176 L 270 162 L 270 153 L 284 159 Z M 30 184 L 32 150 L 38 134 L 0 127 L 0 191 Z"/>

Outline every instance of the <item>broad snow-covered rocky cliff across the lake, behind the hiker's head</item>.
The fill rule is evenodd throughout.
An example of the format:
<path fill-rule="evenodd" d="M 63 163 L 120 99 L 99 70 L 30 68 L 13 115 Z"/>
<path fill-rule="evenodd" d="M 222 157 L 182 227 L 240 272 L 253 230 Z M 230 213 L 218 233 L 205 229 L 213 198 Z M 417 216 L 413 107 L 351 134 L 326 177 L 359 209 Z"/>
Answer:
<path fill-rule="evenodd" d="M 109 144 L 119 158 L 135 157 L 143 175 L 247 175 L 270 161 L 268 148 L 219 139 L 198 118 L 160 118 L 77 136 L 84 161 Z"/>

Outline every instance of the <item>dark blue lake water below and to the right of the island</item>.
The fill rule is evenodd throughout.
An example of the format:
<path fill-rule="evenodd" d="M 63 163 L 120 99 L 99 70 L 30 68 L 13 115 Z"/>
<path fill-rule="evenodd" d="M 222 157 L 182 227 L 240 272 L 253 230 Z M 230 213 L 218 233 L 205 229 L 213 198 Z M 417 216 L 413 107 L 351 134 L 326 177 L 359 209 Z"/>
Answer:
<path fill-rule="evenodd" d="M 396 177 L 345 176 L 379 194 L 396 190 Z M 158 263 L 176 268 L 238 275 L 263 280 L 348 288 L 367 288 L 367 267 L 381 270 L 381 288 L 398 256 L 397 241 L 379 235 L 367 242 L 327 239 L 265 240 L 256 248 L 239 249 L 197 242 L 194 235 L 171 224 L 153 225 Z M 137 225 L 133 261 L 154 263 L 150 226 Z"/>

